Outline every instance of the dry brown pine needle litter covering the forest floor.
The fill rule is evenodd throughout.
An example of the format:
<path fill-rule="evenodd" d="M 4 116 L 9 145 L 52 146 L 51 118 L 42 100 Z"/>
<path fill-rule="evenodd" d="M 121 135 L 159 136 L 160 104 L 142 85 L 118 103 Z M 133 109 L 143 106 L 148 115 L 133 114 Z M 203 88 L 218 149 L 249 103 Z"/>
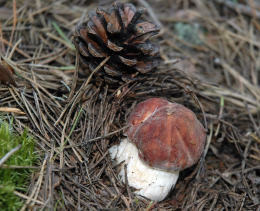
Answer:
<path fill-rule="evenodd" d="M 156 39 L 163 63 L 144 83 L 112 94 L 76 68 L 70 42 L 75 25 L 98 3 L 106 5 L 14 0 L 0 8 L 1 56 L 18 85 L 0 87 L 0 108 L 19 109 L 6 112 L 17 131 L 29 128 L 42 154 L 23 210 L 259 210 L 257 1 L 135 1 L 161 24 Z M 179 22 L 199 26 L 200 44 L 179 36 Z M 151 96 L 184 104 L 208 130 L 200 163 L 182 172 L 161 203 L 137 200 L 118 180 L 107 153 L 122 136 L 132 106 Z"/>

